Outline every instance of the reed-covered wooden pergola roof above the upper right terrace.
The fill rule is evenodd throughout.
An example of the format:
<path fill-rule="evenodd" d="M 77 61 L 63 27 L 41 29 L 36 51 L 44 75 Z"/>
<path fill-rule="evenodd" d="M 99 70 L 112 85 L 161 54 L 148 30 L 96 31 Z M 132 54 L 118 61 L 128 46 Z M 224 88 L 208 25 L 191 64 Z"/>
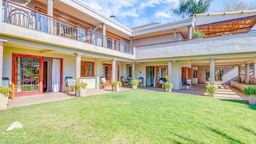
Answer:
<path fill-rule="evenodd" d="M 252 15 L 250 17 L 207 23 L 195 26 L 195 29 L 202 31 L 205 36 L 212 36 L 251 30 L 255 24 L 256 15 Z"/>

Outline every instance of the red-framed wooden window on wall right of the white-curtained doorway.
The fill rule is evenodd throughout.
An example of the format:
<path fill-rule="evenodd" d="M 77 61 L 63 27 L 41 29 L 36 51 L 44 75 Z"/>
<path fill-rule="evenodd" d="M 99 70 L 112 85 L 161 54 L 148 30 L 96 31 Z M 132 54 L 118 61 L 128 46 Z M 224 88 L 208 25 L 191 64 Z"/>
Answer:
<path fill-rule="evenodd" d="M 94 76 L 94 62 L 81 61 L 81 77 Z"/>

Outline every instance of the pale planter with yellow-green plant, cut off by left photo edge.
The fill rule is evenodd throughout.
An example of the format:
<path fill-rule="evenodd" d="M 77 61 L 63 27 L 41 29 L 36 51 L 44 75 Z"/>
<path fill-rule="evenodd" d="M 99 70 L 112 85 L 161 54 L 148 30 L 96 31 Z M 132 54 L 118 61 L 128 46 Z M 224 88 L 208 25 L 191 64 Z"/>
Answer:
<path fill-rule="evenodd" d="M 0 86 L 0 109 L 6 109 L 9 94 L 12 92 L 11 88 Z"/>

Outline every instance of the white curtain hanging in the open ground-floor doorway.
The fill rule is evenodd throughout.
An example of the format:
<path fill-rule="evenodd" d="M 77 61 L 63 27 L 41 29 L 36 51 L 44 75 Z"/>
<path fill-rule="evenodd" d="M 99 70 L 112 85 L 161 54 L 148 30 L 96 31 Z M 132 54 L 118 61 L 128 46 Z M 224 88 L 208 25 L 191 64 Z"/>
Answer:
<path fill-rule="evenodd" d="M 52 59 L 52 91 L 60 91 L 60 60 Z"/>

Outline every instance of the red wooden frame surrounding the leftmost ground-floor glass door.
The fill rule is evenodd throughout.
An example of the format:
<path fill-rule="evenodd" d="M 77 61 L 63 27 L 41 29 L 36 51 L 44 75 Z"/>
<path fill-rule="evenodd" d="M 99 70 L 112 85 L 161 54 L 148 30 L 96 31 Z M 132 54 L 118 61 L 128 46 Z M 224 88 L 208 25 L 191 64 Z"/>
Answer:
<path fill-rule="evenodd" d="M 25 91 L 25 92 L 15 91 L 15 57 L 39 59 L 38 91 Z M 62 75 L 63 75 L 63 59 L 62 58 L 43 57 L 40 55 L 22 54 L 22 53 L 12 53 L 12 84 L 14 85 L 15 97 L 43 93 L 44 58 L 60 59 L 60 91 L 62 91 L 62 79 L 63 79 L 62 78 Z"/>

